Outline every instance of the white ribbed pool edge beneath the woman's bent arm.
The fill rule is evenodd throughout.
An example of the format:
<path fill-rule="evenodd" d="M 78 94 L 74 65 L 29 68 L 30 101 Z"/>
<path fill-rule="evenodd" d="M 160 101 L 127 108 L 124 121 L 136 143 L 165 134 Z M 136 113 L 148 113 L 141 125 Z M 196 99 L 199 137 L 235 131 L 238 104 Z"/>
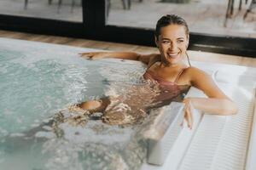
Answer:
<path fill-rule="evenodd" d="M 202 117 L 202 123 L 199 123 L 201 128 L 201 135 L 196 135 L 195 133 L 193 141 L 194 151 L 191 150 L 191 144 L 183 144 L 185 138 L 188 138 L 188 133 L 183 132 L 178 137 L 178 142 L 176 145 L 173 145 L 170 155 L 167 156 L 166 163 L 161 167 L 143 165 L 143 170 L 205 170 L 205 169 L 245 169 L 254 170 L 256 169 L 256 111 L 255 111 L 255 76 L 256 69 L 252 67 L 236 66 L 236 65 L 202 65 L 201 62 L 195 62 L 196 66 L 200 68 L 205 68 L 206 71 L 215 78 L 217 77 L 216 82 L 224 88 L 224 92 L 230 94 L 239 101 L 241 106 L 241 113 L 238 116 L 208 116 L 205 115 Z M 209 66 L 209 67 L 208 67 Z M 227 66 L 227 67 L 226 67 Z M 215 71 L 214 71 L 215 70 Z M 227 77 L 226 75 L 230 75 Z M 225 79 L 224 79 L 225 78 Z M 234 79 L 235 78 L 235 79 Z M 236 82 L 236 79 L 238 82 Z M 230 82 L 231 81 L 231 82 Z M 227 91 L 226 91 L 227 90 Z M 232 98 L 233 99 L 233 98 Z M 254 111 L 253 111 L 254 108 Z M 246 111 L 246 112 L 245 112 Z M 249 112 L 248 112 L 249 111 Z M 253 120 L 252 120 L 253 119 Z M 211 127 L 212 123 L 216 123 L 216 126 L 220 126 L 219 129 L 216 127 Z M 233 127 L 235 126 L 235 127 Z M 232 129 L 233 128 L 233 129 Z M 238 128 L 237 132 L 236 129 Z M 212 130 L 211 130 L 212 129 Z M 188 129 L 187 129 L 188 130 Z M 197 133 L 197 132 L 196 132 Z M 206 133 L 211 133 L 209 135 L 204 135 Z M 229 136 L 229 133 L 233 133 Z M 183 135 L 182 135 L 183 134 Z M 187 136 L 186 136 L 187 135 Z M 228 136 L 226 136 L 228 135 Z M 247 138 L 247 135 L 251 135 L 250 138 Z M 186 136 L 186 137 L 184 137 Z M 208 136 L 208 137 L 207 137 Z M 212 137 L 214 141 L 212 140 Z M 243 138 L 246 138 L 244 139 Z M 208 144 L 202 144 L 200 139 L 210 139 Z M 183 140 L 180 140 L 183 139 Z M 193 138 L 191 138 L 193 140 Z M 192 142 L 191 140 L 191 142 Z M 190 142 L 190 143 L 191 143 Z M 196 144 L 196 146 L 195 146 Z M 212 148 L 212 144 L 216 144 Z M 235 144 L 235 145 L 234 145 Z M 238 145 L 236 145 L 238 144 Z M 241 145 L 239 145 L 241 144 Z M 174 150 L 178 150 L 175 152 Z M 188 150 L 189 153 L 188 153 Z M 203 153 L 204 151 L 195 150 L 205 150 L 207 154 L 202 154 L 201 158 L 198 154 Z M 238 150 L 238 152 L 237 152 Z M 247 150 L 239 152 L 239 150 Z M 189 154 L 189 157 L 187 156 Z M 205 155 L 205 156 L 204 156 Z M 186 161 L 184 157 L 187 156 Z M 209 156 L 209 157 L 208 157 Z M 222 157 L 224 156 L 224 157 Z M 199 161 L 199 160 L 201 161 Z M 193 161 L 194 160 L 194 161 Z M 195 161 L 198 160 L 198 161 Z M 239 161 L 238 161 L 239 160 Z"/>

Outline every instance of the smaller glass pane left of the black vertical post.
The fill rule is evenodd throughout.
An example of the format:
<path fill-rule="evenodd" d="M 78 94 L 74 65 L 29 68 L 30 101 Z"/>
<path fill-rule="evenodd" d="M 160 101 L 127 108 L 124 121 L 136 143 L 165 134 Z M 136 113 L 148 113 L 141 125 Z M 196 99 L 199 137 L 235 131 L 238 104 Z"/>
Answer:
<path fill-rule="evenodd" d="M 0 0 L 0 14 L 83 21 L 82 0 Z"/>

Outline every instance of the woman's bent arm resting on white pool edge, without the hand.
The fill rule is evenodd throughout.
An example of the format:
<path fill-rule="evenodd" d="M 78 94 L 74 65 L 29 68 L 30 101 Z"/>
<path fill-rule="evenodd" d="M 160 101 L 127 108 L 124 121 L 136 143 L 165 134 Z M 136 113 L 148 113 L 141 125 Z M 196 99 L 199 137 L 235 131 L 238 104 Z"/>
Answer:
<path fill-rule="evenodd" d="M 201 89 L 208 98 L 187 98 L 184 103 L 193 105 L 195 109 L 214 115 L 234 115 L 237 112 L 236 104 L 226 96 L 206 72 L 195 67 L 189 68 L 190 83 Z"/>

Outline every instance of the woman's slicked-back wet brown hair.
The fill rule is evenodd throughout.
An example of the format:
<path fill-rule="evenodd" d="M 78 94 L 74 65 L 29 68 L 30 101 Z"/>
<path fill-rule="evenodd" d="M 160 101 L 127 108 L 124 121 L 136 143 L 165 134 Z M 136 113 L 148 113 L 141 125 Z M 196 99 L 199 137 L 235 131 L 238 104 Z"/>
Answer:
<path fill-rule="evenodd" d="M 186 34 L 189 35 L 189 26 L 187 25 L 187 22 L 177 14 L 166 14 L 160 18 L 160 20 L 157 21 L 157 24 L 155 26 L 154 36 L 158 40 L 158 37 L 160 36 L 160 29 L 165 26 L 169 25 L 178 25 L 183 26 Z"/>

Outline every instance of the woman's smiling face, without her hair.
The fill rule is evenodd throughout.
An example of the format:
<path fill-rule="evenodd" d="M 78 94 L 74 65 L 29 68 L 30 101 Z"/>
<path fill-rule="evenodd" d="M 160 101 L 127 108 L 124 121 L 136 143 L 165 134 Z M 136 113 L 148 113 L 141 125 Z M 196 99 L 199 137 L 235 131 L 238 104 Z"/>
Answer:
<path fill-rule="evenodd" d="M 167 65 L 175 65 L 182 60 L 188 44 L 189 35 L 184 26 L 169 25 L 160 28 L 160 36 L 155 39 L 161 54 L 161 61 Z"/>

